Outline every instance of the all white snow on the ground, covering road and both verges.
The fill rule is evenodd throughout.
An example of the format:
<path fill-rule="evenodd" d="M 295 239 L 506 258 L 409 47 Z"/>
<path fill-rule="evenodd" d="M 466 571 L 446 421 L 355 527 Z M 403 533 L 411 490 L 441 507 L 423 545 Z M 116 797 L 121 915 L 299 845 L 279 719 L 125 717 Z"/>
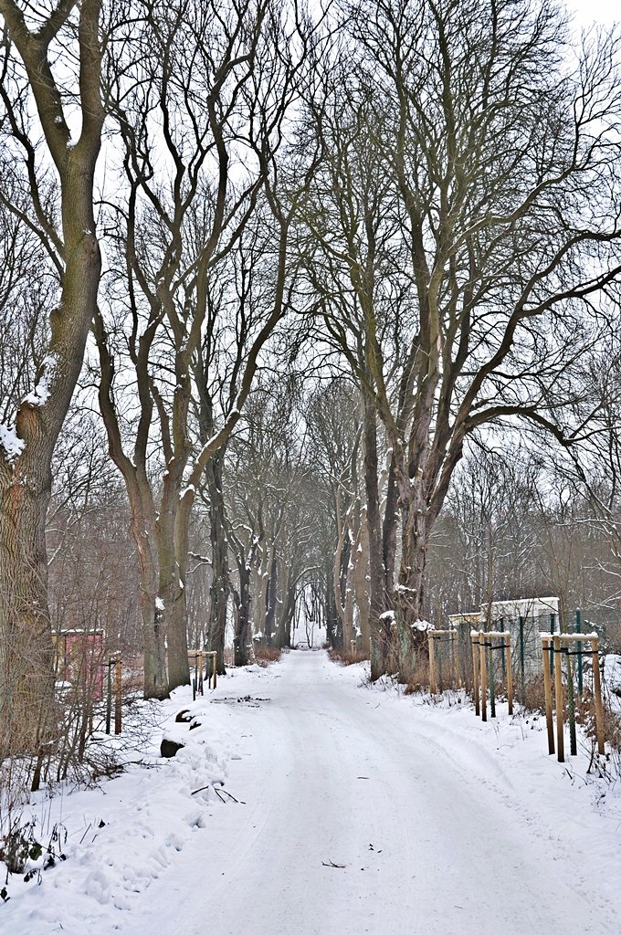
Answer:
<path fill-rule="evenodd" d="M 585 751 L 560 765 L 543 718 L 483 724 L 364 674 L 296 652 L 152 707 L 146 766 L 35 800 L 66 860 L 11 882 L 0 931 L 618 933 L 621 795 Z M 163 761 L 165 732 L 187 745 Z"/>

